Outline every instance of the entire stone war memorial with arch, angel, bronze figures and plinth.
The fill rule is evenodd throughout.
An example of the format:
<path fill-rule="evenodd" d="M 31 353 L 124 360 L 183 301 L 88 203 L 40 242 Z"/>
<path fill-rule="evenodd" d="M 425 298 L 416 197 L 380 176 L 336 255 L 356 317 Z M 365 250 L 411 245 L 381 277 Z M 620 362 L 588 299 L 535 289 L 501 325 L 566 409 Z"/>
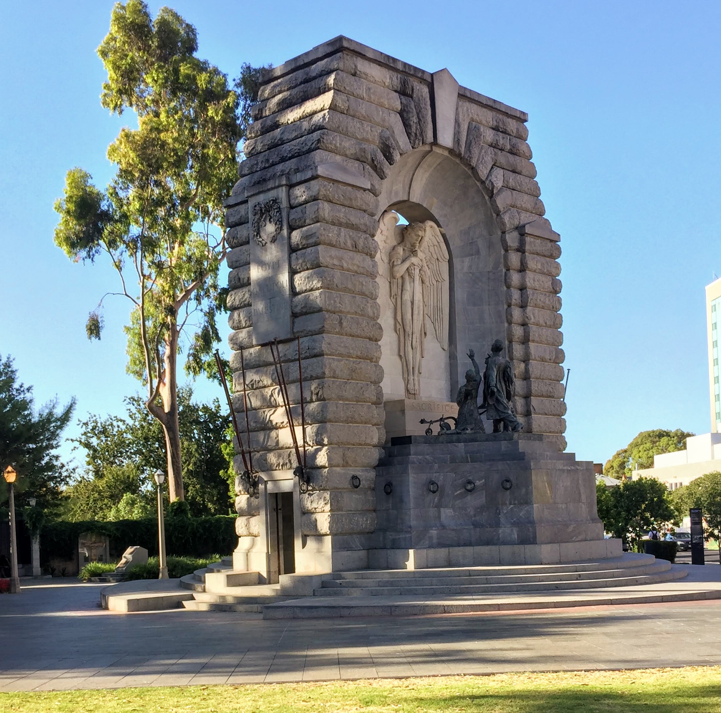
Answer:
<path fill-rule="evenodd" d="M 622 554 L 564 452 L 526 120 L 347 37 L 265 71 L 225 202 L 239 577 Z"/>

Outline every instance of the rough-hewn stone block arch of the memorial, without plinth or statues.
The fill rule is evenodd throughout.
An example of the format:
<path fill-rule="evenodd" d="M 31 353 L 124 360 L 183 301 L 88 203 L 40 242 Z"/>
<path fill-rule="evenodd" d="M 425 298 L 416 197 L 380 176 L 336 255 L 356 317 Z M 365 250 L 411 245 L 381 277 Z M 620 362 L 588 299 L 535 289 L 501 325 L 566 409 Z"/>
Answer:
<path fill-rule="evenodd" d="M 336 37 L 266 71 L 260 84 L 239 181 L 225 201 L 234 410 L 254 468 L 265 480 L 292 479 L 299 347 L 312 489 L 299 496 L 296 570 L 366 567 L 378 546 L 373 482 L 384 423 L 379 216 L 397 208 L 445 233 L 454 383 L 468 347 L 482 357 L 505 338 L 526 433 L 562 449 L 559 236 L 543 217 L 525 112 L 459 87 L 448 70 L 431 73 Z M 257 204 L 275 213 L 273 200 L 283 226 L 274 243 L 270 225 L 280 223 L 254 216 Z M 269 231 L 266 246 L 254 217 Z M 282 260 L 254 262 L 257 247 L 281 243 Z M 289 411 L 264 346 L 280 332 L 290 335 L 280 348 Z M 240 454 L 235 466 L 242 471 Z M 260 508 L 237 496 L 236 568 L 262 573 Z"/>

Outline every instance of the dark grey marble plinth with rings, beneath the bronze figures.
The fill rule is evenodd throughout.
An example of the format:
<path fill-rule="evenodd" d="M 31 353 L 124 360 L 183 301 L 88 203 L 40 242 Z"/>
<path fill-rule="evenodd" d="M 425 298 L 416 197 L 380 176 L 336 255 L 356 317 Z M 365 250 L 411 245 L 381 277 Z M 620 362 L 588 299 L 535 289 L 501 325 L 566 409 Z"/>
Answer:
<path fill-rule="evenodd" d="M 603 539 L 593 465 L 540 434 L 394 438 L 376 469 L 376 513 L 371 567 L 621 554 L 620 541 Z"/>

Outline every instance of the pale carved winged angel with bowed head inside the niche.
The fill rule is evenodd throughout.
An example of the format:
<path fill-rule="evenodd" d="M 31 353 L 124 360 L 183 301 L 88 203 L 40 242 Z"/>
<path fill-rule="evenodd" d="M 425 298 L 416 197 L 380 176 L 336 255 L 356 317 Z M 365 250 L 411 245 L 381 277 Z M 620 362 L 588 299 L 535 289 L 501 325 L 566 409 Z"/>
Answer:
<path fill-rule="evenodd" d="M 406 397 L 420 399 L 426 318 L 441 348 L 448 350 L 448 250 L 433 221 L 407 226 L 397 222 L 397 213 L 386 211 L 379 232 L 394 244 L 387 257 L 388 276 Z"/>

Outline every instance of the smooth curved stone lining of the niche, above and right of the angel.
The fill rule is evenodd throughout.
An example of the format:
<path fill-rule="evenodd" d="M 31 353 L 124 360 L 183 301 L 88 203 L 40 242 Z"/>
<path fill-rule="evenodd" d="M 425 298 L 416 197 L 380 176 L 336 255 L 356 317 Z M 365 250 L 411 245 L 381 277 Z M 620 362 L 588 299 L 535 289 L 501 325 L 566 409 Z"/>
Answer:
<path fill-rule="evenodd" d="M 446 400 L 454 401 L 470 366 L 468 350 L 475 350 L 482 360 L 493 340 L 505 342 L 503 247 L 495 214 L 469 170 L 438 146 L 414 149 L 394 164 L 383 182 L 379 208 L 378 218 L 390 209 L 409 223 L 433 220 L 446 239 L 450 277 Z M 381 311 L 384 308 L 381 304 Z"/>

